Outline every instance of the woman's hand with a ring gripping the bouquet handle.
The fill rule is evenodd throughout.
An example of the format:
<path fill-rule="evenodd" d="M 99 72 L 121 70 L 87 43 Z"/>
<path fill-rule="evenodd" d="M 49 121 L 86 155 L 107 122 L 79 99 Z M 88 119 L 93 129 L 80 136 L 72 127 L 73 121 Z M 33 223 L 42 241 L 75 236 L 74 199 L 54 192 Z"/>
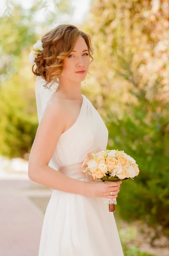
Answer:
<path fill-rule="evenodd" d="M 93 181 L 89 183 L 90 189 L 87 192 L 87 196 L 114 199 L 120 191 L 119 187 L 121 183 L 121 181 Z M 110 195 L 110 192 L 113 192 L 113 195 Z"/>

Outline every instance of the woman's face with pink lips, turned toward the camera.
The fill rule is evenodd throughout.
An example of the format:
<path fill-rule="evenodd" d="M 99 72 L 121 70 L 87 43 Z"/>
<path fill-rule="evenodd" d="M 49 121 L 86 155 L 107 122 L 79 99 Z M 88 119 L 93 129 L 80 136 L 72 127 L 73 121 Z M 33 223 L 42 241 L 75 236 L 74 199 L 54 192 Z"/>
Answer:
<path fill-rule="evenodd" d="M 76 44 L 73 51 L 70 53 L 68 58 L 64 60 L 64 67 L 61 76 L 65 79 L 81 82 L 85 79 L 90 58 L 85 40 L 79 36 L 76 40 Z M 77 71 L 85 70 L 85 73 L 78 74 Z"/>

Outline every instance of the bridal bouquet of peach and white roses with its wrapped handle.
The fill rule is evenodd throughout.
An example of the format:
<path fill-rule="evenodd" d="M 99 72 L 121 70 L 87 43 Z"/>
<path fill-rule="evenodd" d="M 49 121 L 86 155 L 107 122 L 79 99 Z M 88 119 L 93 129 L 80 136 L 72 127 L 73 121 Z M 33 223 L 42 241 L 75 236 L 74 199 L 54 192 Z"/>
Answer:
<path fill-rule="evenodd" d="M 82 165 L 82 172 L 85 172 L 90 180 L 118 181 L 133 179 L 138 175 L 138 165 L 124 151 L 107 149 L 98 151 L 87 154 Z M 114 205 L 117 204 L 116 198 L 107 198 L 105 202 L 109 203 L 109 211 L 114 212 Z"/>

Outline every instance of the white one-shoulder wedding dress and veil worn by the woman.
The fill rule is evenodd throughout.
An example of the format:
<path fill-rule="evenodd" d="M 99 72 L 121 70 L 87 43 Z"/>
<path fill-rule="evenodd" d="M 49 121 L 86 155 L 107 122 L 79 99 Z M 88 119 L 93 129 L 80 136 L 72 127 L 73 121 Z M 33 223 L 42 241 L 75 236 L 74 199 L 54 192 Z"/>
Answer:
<path fill-rule="evenodd" d="M 42 79 L 36 82 L 39 122 L 50 91 Z M 52 87 L 51 87 L 52 88 Z M 83 156 L 100 147 L 107 148 L 108 130 L 98 111 L 87 97 L 76 122 L 63 132 L 49 166 L 56 171 L 65 165 L 82 161 Z M 81 169 L 68 176 L 91 182 Z M 39 256 L 123 256 L 113 212 L 104 203 L 105 198 L 87 197 L 53 190 L 42 226 Z"/>

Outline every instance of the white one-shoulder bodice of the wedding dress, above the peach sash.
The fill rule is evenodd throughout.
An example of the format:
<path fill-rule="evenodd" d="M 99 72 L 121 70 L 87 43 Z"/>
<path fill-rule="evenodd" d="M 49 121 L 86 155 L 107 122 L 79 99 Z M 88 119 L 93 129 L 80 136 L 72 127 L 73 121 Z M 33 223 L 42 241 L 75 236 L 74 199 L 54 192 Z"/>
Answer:
<path fill-rule="evenodd" d="M 108 129 L 100 114 L 85 95 L 76 122 L 61 134 L 49 166 L 59 169 L 82 161 L 89 151 L 107 148 Z"/>

